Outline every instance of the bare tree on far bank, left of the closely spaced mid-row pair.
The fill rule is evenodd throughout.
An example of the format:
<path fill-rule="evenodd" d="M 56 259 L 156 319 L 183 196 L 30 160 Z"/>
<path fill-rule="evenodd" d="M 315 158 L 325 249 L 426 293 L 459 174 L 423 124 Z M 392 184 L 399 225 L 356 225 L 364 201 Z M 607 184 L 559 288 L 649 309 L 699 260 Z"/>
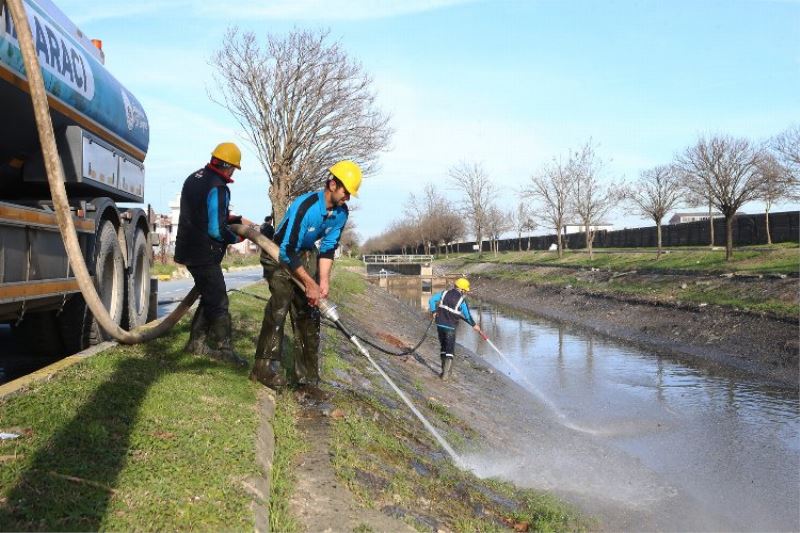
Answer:
<path fill-rule="evenodd" d="M 528 187 L 524 189 L 526 196 L 541 202 L 541 209 L 536 216 L 545 227 L 555 231 L 558 257 L 564 255 L 562 233 L 568 215 L 571 189 L 572 174 L 569 165 L 560 158 L 553 158 L 531 176 Z"/>

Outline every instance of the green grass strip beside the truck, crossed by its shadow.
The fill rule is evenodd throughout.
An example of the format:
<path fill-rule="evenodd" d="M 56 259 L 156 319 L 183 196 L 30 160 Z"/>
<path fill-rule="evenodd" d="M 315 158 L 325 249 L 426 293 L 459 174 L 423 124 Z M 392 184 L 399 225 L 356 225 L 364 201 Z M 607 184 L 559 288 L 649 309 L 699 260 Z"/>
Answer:
<path fill-rule="evenodd" d="M 0 428 L 21 434 L 0 441 L 4 530 L 252 529 L 255 387 L 245 370 L 183 354 L 187 330 L 0 405 Z M 236 344 L 252 353 L 247 336 Z"/>

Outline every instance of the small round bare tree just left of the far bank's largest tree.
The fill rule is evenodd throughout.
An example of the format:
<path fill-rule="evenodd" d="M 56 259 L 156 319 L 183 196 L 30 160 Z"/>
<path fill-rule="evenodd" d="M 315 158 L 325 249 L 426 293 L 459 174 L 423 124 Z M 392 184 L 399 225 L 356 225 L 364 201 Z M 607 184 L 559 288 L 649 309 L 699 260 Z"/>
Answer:
<path fill-rule="evenodd" d="M 679 174 L 666 165 L 642 171 L 638 181 L 625 188 L 625 197 L 634 205 L 635 211 L 656 223 L 656 261 L 661 258 L 661 221 L 680 204 L 682 196 L 683 184 Z"/>

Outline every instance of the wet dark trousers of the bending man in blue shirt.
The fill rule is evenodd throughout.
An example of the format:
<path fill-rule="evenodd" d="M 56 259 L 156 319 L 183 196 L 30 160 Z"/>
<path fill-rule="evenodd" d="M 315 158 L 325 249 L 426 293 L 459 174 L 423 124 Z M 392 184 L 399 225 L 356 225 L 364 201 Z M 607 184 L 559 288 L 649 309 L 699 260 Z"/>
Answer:
<path fill-rule="evenodd" d="M 318 281 L 317 252 L 301 252 L 303 268 Z M 316 385 L 319 382 L 319 310 L 308 305 L 306 293 L 291 279 L 289 273 L 271 258 L 261 259 L 264 277 L 271 296 L 264 307 L 264 320 L 256 345 L 256 358 L 280 361 L 283 328 L 286 314 L 292 318 L 294 329 L 294 373 L 299 383 Z"/>

